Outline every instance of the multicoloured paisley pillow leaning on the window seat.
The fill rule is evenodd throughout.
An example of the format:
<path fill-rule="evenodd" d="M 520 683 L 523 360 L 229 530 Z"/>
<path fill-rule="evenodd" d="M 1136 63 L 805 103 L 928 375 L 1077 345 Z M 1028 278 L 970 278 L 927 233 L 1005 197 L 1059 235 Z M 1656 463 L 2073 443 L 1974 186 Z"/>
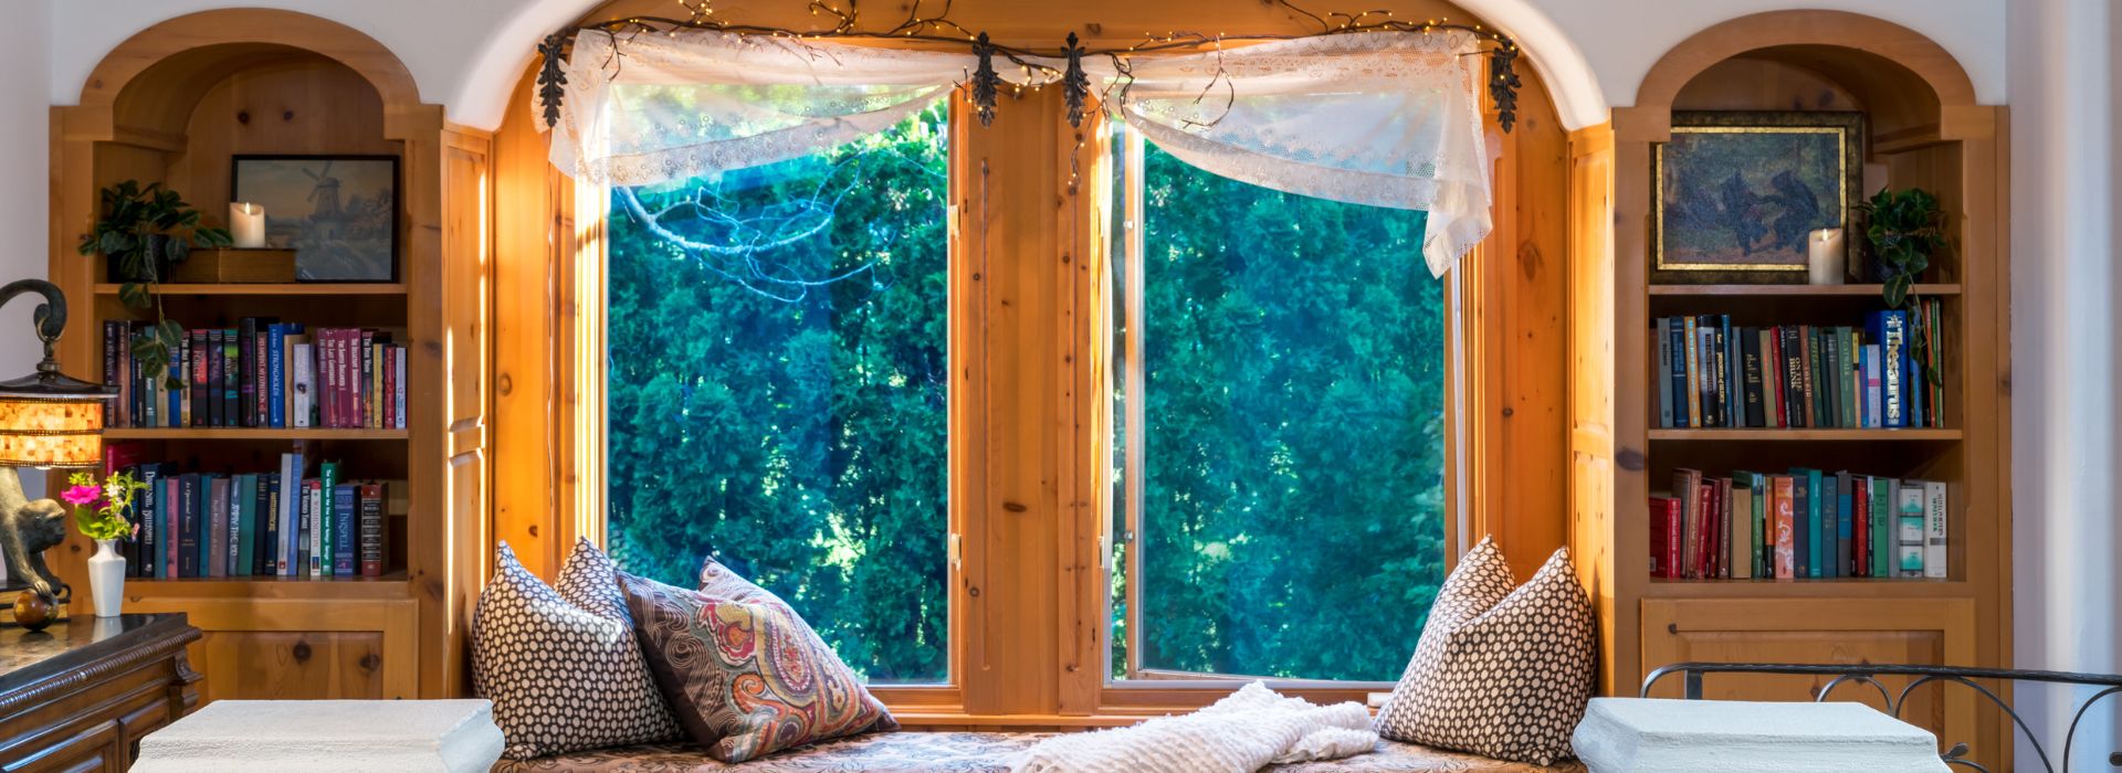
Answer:
<path fill-rule="evenodd" d="M 620 572 L 656 684 L 707 754 L 745 762 L 900 724 L 781 597 L 707 561 L 685 591 Z"/>

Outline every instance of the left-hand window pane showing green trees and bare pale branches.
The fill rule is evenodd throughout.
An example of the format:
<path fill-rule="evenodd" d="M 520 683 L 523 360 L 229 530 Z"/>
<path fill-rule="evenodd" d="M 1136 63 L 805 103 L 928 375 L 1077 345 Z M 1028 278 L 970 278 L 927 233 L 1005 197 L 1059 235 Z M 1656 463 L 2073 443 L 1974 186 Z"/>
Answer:
<path fill-rule="evenodd" d="M 944 682 L 946 114 L 613 191 L 609 542 L 775 591 L 872 682 Z"/>

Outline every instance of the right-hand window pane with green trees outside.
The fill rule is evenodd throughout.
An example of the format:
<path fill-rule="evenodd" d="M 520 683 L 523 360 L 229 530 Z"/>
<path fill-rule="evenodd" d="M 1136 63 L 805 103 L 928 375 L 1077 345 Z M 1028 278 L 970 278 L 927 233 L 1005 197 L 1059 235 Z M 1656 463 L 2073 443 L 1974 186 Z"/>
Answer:
<path fill-rule="evenodd" d="M 1144 460 L 1116 462 L 1142 483 L 1140 536 L 1114 561 L 1116 676 L 1140 546 L 1133 676 L 1396 680 L 1445 557 L 1424 214 L 1250 186 L 1154 146 L 1123 182 L 1146 220 L 1142 394 L 1114 381 L 1140 400 L 1118 436 L 1140 432 Z"/>

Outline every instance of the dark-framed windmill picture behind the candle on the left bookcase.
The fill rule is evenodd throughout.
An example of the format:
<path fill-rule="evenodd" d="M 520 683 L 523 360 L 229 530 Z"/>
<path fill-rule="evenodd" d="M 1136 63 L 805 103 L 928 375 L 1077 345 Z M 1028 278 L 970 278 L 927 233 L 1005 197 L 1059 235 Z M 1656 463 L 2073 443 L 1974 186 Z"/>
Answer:
<path fill-rule="evenodd" d="M 265 208 L 265 246 L 295 250 L 297 282 L 397 282 L 399 159 L 238 155 L 233 201 Z"/>

